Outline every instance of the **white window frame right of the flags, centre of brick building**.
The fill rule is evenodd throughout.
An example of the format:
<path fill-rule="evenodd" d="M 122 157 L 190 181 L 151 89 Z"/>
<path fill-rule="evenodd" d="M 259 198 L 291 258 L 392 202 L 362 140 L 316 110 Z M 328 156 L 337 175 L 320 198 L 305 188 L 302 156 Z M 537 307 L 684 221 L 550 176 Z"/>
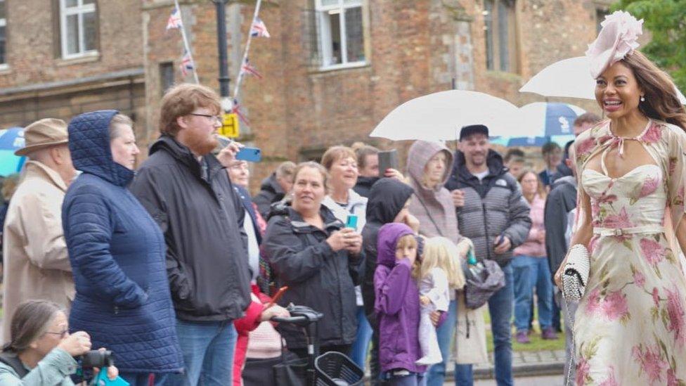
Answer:
<path fill-rule="evenodd" d="M 337 70 L 340 68 L 361 67 L 367 65 L 367 55 L 365 53 L 365 60 L 358 60 L 356 62 L 348 61 L 348 42 L 347 31 L 345 30 L 345 16 L 344 10 L 347 8 L 361 8 L 362 23 L 363 23 L 363 50 L 365 50 L 364 34 L 364 1 L 363 0 L 338 0 L 338 4 L 324 6 L 322 0 L 316 0 L 315 8 L 318 18 L 317 27 L 319 29 L 319 52 L 321 53 L 321 70 Z M 337 13 L 339 15 L 339 25 L 341 32 L 341 63 L 331 64 L 331 26 L 329 15 Z"/>

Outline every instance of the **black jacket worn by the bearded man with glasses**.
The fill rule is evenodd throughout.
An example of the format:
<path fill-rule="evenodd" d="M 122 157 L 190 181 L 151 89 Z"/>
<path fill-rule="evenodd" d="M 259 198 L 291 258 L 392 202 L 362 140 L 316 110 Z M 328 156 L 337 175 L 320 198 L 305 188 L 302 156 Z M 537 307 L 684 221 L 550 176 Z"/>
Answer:
<path fill-rule="evenodd" d="M 214 155 L 203 163 L 206 172 L 186 146 L 162 136 L 129 189 L 164 233 L 176 317 L 238 319 L 250 303 L 245 210 Z"/>

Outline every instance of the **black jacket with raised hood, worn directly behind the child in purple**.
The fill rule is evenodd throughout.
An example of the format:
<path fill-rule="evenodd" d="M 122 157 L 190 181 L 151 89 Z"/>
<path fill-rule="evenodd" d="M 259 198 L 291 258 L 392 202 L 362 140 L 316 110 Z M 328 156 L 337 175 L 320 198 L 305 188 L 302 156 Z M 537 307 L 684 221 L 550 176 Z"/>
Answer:
<path fill-rule="evenodd" d="M 367 223 L 362 230 L 362 245 L 365 252 L 362 297 L 365 314 L 370 323 L 375 323 L 374 271 L 376 270 L 377 236 L 384 224 L 393 222 L 414 191 L 408 184 L 396 179 L 384 178 L 377 181 L 367 201 Z"/>

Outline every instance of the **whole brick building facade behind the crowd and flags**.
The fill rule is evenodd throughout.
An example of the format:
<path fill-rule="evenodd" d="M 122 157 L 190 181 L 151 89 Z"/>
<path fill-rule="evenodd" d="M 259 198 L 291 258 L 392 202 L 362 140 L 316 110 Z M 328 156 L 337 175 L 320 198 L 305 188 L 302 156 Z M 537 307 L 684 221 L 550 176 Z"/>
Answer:
<path fill-rule="evenodd" d="M 119 108 L 134 114 L 145 148 L 157 136 L 164 89 L 192 80 L 181 79 L 178 70 L 179 31 L 165 30 L 174 1 L 50 0 L 52 12 L 41 8 L 46 2 L 0 1 L 6 6 L 7 37 L 7 65 L 0 64 L 0 127 Z M 60 46 L 65 40 L 60 12 L 67 3 L 96 8 L 96 27 L 83 26 L 96 31 L 94 49 L 75 58 L 64 58 Z M 200 82 L 218 89 L 214 4 L 180 3 Z M 517 89 L 545 65 L 583 54 L 608 4 L 264 0 L 260 17 L 271 39 L 255 38 L 250 51 L 250 62 L 264 79 L 245 79 L 240 94 L 250 118 L 242 140 L 265 156 L 254 167 L 253 183 L 281 160 L 316 158 L 338 143 L 406 148 L 367 134 L 397 105 L 424 94 L 474 89 L 517 105 L 541 101 Z M 232 90 L 253 11 L 254 0 L 232 0 L 226 8 Z M 590 101 L 577 104 L 597 111 Z"/>

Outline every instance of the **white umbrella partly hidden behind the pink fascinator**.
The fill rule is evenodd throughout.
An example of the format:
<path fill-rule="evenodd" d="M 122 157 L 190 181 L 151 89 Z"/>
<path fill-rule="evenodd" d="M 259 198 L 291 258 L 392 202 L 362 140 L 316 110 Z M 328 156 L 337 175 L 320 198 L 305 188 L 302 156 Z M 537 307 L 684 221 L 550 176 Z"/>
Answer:
<path fill-rule="evenodd" d="M 595 100 L 595 79 L 590 75 L 589 69 L 590 61 L 585 56 L 560 60 L 533 75 L 519 91 L 542 96 Z M 676 92 L 679 101 L 686 104 L 684 94 L 679 90 Z"/>

